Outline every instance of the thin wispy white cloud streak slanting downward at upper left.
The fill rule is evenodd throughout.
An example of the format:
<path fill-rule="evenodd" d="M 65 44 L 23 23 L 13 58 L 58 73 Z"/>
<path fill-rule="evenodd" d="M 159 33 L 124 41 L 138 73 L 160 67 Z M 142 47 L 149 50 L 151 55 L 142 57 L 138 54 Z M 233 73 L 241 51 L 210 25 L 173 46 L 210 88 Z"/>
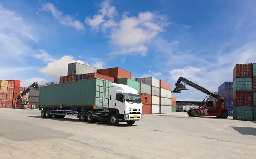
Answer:
<path fill-rule="evenodd" d="M 84 24 L 79 20 L 75 20 L 70 15 L 63 15 L 52 3 L 43 4 L 43 11 L 51 12 L 52 16 L 59 21 L 60 24 L 64 26 L 72 26 L 77 30 L 84 30 Z"/>

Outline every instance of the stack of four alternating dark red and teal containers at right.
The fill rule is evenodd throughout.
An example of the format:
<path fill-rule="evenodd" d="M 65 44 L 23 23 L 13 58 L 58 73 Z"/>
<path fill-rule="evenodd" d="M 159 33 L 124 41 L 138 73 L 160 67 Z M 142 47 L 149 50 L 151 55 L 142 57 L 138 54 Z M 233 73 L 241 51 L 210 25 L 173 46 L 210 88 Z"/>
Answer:
<path fill-rule="evenodd" d="M 233 69 L 233 119 L 253 121 L 253 64 Z"/>

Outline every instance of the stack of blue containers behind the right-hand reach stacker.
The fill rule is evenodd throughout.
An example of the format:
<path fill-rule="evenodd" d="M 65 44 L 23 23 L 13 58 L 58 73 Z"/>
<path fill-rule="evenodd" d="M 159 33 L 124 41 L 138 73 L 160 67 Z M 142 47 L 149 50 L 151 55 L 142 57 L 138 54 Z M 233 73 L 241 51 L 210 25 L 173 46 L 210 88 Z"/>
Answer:
<path fill-rule="evenodd" d="M 224 107 L 228 110 L 228 116 L 233 116 L 233 82 L 224 82 L 218 87 L 218 95 L 225 98 Z"/>

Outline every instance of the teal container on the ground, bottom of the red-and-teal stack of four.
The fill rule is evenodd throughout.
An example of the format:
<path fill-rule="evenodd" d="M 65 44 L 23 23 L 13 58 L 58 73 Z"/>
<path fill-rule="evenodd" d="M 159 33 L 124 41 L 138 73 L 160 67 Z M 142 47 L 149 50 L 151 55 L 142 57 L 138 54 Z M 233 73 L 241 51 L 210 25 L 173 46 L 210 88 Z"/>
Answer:
<path fill-rule="evenodd" d="M 253 107 L 248 106 L 234 106 L 233 119 L 253 121 Z"/>

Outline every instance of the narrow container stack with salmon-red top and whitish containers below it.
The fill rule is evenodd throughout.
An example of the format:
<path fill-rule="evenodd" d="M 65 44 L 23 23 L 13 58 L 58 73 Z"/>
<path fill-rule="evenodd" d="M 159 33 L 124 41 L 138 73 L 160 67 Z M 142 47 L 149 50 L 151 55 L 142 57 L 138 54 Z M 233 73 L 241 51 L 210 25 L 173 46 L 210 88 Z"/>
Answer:
<path fill-rule="evenodd" d="M 172 113 L 172 85 L 160 80 L 160 114 Z"/>

